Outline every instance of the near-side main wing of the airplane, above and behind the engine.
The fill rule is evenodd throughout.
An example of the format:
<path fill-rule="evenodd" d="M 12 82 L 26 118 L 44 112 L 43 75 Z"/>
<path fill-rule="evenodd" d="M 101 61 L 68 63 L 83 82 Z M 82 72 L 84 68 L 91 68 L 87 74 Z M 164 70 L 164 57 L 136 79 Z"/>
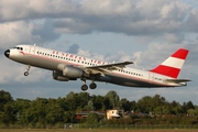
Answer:
<path fill-rule="evenodd" d="M 107 64 L 107 65 L 99 65 L 99 66 L 89 66 L 85 67 L 85 72 L 89 73 L 91 75 L 98 75 L 105 76 L 105 72 L 112 72 L 116 69 L 123 69 L 125 65 L 133 64 L 133 62 L 123 62 L 123 63 L 113 63 L 113 64 Z"/>

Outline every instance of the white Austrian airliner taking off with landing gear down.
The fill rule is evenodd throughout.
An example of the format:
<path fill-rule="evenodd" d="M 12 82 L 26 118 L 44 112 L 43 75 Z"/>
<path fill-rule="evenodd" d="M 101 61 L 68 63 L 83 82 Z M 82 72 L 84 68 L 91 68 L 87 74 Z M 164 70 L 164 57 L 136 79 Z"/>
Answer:
<path fill-rule="evenodd" d="M 81 90 L 87 90 L 86 80 L 91 80 L 90 89 L 97 88 L 95 81 L 109 82 L 127 87 L 158 88 L 186 86 L 189 79 L 178 79 L 179 72 L 188 55 L 188 50 L 179 48 L 162 64 L 151 70 L 141 70 L 127 65 L 133 62 L 108 63 L 94 58 L 64 53 L 28 44 L 16 45 L 4 55 L 26 65 L 24 76 L 31 66 L 52 70 L 55 80 L 68 81 L 81 79 Z"/>

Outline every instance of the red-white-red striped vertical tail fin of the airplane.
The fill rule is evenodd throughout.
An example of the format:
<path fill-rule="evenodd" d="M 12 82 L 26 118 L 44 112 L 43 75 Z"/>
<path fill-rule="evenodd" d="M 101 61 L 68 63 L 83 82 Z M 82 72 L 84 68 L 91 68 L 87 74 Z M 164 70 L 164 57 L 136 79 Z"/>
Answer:
<path fill-rule="evenodd" d="M 177 78 L 183 64 L 188 55 L 188 50 L 179 48 L 156 68 L 150 70 L 168 77 Z"/>

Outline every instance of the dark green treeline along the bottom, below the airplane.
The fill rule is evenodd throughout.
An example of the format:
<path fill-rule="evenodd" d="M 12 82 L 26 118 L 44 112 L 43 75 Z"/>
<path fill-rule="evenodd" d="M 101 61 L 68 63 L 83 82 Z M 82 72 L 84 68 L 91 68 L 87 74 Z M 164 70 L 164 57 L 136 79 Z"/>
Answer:
<path fill-rule="evenodd" d="M 87 119 L 77 120 L 80 111 L 107 111 L 119 109 L 124 111 L 120 119 L 107 120 L 90 112 Z M 0 128 L 63 127 L 67 123 L 87 124 L 198 124 L 198 107 L 191 101 L 180 105 L 168 102 L 164 97 L 143 97 L 138 101 L 120 99 L 116 91 L 106 96 L 90 96 L 88 92 L 69 92 L 64 98 L 13 99 L 0 90 Z"/>

